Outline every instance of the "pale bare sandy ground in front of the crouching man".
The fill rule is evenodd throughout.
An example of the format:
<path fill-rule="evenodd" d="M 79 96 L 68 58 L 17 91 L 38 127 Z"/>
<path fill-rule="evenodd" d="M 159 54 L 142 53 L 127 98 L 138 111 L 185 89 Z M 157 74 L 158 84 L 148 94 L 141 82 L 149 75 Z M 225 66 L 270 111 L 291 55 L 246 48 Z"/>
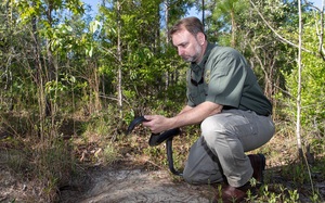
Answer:
<path fill-rule="evenodd" d="M 61 192 L 61 202 L 211 202 L 213 189 L 172 180 L 166 170 L 102 168 L 90 174 L 90 185 L 83 192 Z"/>

